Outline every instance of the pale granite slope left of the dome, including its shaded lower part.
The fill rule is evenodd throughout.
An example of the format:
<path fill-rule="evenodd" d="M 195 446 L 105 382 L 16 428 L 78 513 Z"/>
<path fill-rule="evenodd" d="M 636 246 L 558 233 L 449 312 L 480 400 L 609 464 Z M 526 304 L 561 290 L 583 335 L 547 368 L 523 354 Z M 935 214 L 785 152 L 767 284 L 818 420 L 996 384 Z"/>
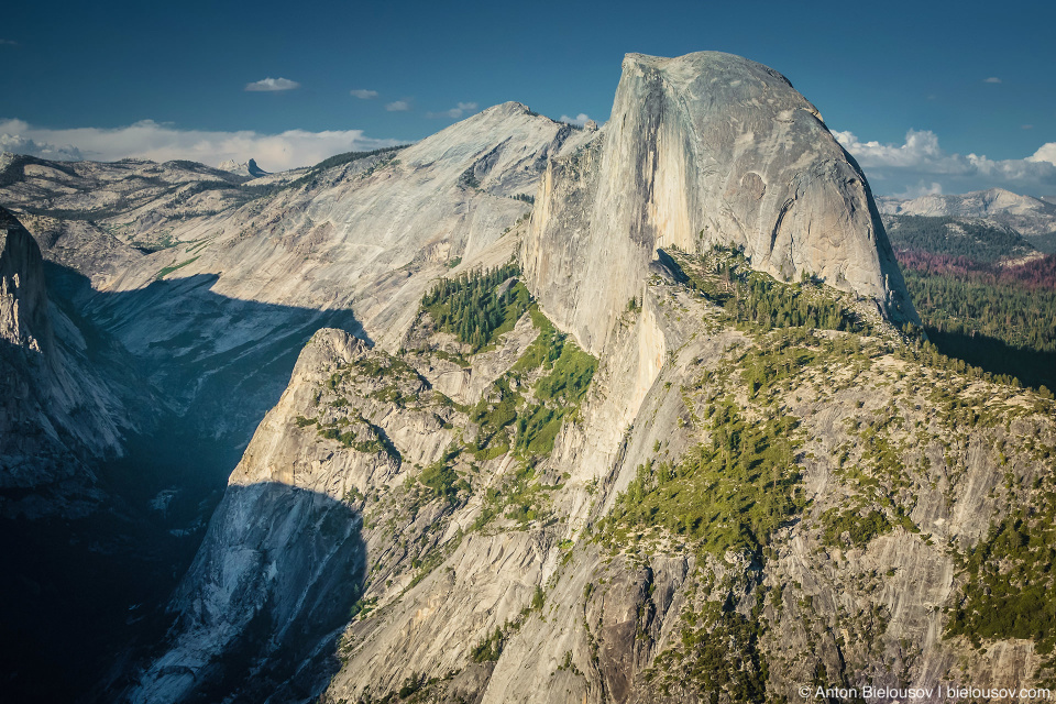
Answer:
<path fill-rule="evenodd" d="M 585 138 L 507 102 L 295 179 L 11 157 L 0 201 L 28 212 L 48 260 L 89 279 L 78 311 L 141 361 L 177 415 L 195 408 L 200 431 L 244 444 L 316 330 L 393 349 L 432 279 L 465 271 L 463 258 L 508 260 L 505 235 L 548 160 Z"/>

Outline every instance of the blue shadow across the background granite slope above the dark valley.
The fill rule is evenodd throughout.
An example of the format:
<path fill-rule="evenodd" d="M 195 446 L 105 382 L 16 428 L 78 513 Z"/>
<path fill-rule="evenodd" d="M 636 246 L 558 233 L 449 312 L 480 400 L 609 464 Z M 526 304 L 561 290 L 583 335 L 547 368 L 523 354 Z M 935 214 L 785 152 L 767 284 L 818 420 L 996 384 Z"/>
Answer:
<path fill-rule="evenodd" d="M 45 273 L 64 312 L 97 339 L 129 349 L 167 410 L 200 436 L 243 448 L 317 330 L 338 328 L 373 344 L 351 309 L 230 298 L 211 290 L 217 274 L 97 292 L 69 267 L 46 263 Z"/>

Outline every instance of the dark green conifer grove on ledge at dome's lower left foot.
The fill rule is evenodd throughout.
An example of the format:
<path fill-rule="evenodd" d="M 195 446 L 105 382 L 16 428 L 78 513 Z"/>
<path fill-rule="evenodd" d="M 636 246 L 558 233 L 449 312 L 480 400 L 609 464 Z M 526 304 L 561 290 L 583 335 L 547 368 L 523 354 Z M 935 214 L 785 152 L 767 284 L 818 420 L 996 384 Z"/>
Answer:
<path fill-rule="evenodd" d="M 502 293 L 497 290 L 501 284 L 519 274 L 515 264 L 506 264 L 441 279 L 421 299 L 421 307 L 432 317 L 438 330 L 454 333 L 475 353 L 513 330 L 528 309 L 531 297 L 520 282 Z"/>

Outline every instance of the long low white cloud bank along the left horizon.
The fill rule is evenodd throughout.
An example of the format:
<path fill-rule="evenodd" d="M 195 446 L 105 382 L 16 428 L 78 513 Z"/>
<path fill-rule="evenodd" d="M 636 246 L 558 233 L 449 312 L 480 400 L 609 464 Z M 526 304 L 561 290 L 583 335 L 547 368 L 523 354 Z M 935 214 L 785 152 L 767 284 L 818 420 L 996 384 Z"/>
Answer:
<path fill-rule="evenodd" d="M 252 157 L 261 168 L 274 172 L 316 164 L 342 152 L 374 150 L 398 143 L 398 140 L 367 138 L 362 130 L 287 130 L 279 134 L 261 134 L 250 130 L 212 132 L 179 130 L 153 120 L 112 130 L 50 130 L 22 120 L 0 119 L 0 148 L 57 161 L 88 158 L 111 162 L 135 157 L 167 162 L 185 158 L 217 166 L 222 161 L 241 163 Z"/>

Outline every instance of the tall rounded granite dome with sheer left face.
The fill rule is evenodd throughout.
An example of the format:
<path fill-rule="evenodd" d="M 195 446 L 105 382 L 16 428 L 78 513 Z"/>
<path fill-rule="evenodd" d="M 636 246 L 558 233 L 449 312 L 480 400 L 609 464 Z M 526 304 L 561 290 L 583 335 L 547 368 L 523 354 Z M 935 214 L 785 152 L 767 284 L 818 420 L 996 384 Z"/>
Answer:
<path fill-rule="evenodd" d="M 612 119 L 551 161 L 537 204 L 526 273 L 595 352 L 658 248 L 736 246 L 778 278 L 820 275 L 916 320 L 857 164 L 788 79 L 738 56 L 627 55 Z"/>

